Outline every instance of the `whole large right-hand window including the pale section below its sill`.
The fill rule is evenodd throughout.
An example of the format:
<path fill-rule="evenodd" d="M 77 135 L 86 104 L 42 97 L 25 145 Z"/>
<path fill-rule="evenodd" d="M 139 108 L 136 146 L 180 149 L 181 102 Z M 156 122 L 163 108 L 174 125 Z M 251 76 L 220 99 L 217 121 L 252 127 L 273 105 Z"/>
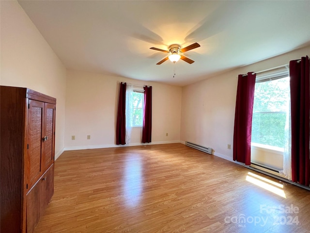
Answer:
<path fill-rule="evenodd" d="M 255 147 L 264 152 L 252 150 L 251 162 L 254 160 L 261 165 L 281 169 L 282 160 L 272 157 L 273 154 L 283 156 L 288 140 L 289 108 L 290 77 L 287 68 L 257 75 L 251 145 L 252 149 Z"/>

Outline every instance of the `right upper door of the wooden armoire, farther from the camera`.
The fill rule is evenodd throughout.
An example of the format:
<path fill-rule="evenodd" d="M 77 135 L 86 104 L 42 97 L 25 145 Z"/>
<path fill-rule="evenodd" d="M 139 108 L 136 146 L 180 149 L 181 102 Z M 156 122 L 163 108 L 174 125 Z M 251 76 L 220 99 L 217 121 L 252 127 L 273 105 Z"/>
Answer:
<path fill-rule="evenodd" d="M 45 104 L 45 126 L 44 136 L 46 140 L 43 141 L 44 151 L 44 167 L 48 168 L 54 161 L 54 131 L 55 131 L 55 104 Z"/>

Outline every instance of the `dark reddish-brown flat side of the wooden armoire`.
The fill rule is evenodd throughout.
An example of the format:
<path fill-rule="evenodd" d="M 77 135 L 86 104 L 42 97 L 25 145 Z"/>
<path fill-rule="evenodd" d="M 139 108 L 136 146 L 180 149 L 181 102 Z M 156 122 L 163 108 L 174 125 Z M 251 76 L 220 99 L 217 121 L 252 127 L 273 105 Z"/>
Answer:
<path fill-rule="evenodd" d="M 0 86 L 0 232 L 20 232 L 23 219 L 25 90 Z"/>

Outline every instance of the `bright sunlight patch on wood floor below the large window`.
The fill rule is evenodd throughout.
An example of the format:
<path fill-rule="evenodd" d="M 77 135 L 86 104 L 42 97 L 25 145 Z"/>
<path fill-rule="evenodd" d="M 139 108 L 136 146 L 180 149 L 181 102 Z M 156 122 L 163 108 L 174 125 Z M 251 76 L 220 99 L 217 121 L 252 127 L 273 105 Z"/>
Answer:
<path fill-rule="evenodd" d="M 269 192 L 279 195 L 282 198 L 286 198 L 286 195 L 283 190 L 283 184 L 273 182 L 267 178 L 256 175 L 252 172 L 248 172 L 246 181 L 253 183 Z"/>

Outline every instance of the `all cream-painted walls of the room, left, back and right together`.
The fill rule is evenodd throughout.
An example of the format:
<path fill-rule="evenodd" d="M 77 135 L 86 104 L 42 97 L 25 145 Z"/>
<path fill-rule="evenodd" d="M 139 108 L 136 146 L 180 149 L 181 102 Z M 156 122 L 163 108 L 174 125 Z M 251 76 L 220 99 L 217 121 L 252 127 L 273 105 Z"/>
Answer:
<path fill-rule="evenodd" d="M 28 87 L 57 98 L 56 158 L 64 147 L 115 146 L 118 83 L 129 82 L 153 86 L 153 143 L 191 141 L 232 160 L 233 150 L 228 150 L 227 144 L 233 149 L 237 75 L 310 54 L 308 46 L 181 88 L 87 72 L 66 74 L 16 1 L 0 1 L 0 19 L 0 84 Z M 133 130 L 132 144 L 140 143 L 140 131 Z M 88 134 L 91 140 L 86 139 Z M 76 140 L 71 140 L 71 135 L 76 135 Z"/>

